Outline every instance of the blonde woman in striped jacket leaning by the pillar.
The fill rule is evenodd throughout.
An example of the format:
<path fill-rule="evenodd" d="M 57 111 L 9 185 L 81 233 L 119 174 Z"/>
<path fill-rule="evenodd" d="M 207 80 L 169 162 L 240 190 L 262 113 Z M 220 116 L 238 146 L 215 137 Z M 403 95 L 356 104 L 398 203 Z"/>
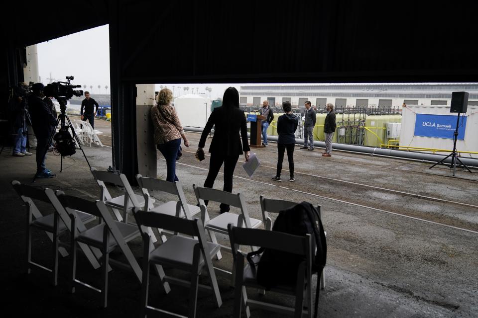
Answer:
<path fill-rule="evenodd" d="M 188 139 L 184 134 L 183 127 L 179 121 L 178 115 L 171 106 L 173 93 L 168 88 L 163 88 L 158 94 L 157 105 L 151 108 L 151 119 L 154 125 L 154 143 L 166 159 L 168 168 L 166 181 L 178 181 L 176 175 L 176 158 L 181 138 L 184 140 L 184 146 L 189 147 Z"/>

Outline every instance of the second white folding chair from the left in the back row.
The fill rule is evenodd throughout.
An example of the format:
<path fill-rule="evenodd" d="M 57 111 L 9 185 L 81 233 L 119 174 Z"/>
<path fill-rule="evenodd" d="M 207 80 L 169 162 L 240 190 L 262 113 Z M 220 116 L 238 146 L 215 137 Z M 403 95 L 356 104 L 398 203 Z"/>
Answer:
<path fill-rule="evenodd" d="M 195 205 L 188 204 L 183 192 L 183 187 L 179 181 L 169 182 L 155 178 L 143 177 L 141 174 L 136 174 L 136 179 L 144 197 L 144 211 L 167 214 L 179 218 L 192 220 L 192 217 L 199 212 L 201 208 Z M 178 201 L 167 201 L 165 203 L 154 206 L 151 201 L 149 191 L 161 191 L 177 196 Z M 160 232 L 161 230 L 158 229 Z M 165 236 L 161 236 L 163 241 Z"/>

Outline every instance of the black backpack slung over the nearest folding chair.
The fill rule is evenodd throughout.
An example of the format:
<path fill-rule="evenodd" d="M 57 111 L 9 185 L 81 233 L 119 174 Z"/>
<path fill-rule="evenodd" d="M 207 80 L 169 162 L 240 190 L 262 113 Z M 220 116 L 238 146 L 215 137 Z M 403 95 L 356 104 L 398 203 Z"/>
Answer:
<path fill-rule="evenodd" d="M 317 291 L 315 295 L 315 314 L 320 290 L 320 277 L 327 259 L 327 242 L 324 228 L 317 209 L 308 202 L 301 202 L 287 210 L 279 212 L 274 222 L 272 231 L 288 233 L 297 236 L 310 234 L 312 237 L 312 250 L 316 251 L 312 257 L 312 273 L 317 273 Z M 257 264 L 252 261 L 252 256 L 262 253 Z M 247 261 L 252 270 L 256 269 L 257 282 L 266 290 L 281 284 L 295 284 L 297 269 L 305 258 L 296 254 L 277 251 L 261 247 L 257 251 L 247 254 Z M 311 282 L 307 282 L 310 284 Z M 309 304 L 312 306 L 312 304 Z"/>

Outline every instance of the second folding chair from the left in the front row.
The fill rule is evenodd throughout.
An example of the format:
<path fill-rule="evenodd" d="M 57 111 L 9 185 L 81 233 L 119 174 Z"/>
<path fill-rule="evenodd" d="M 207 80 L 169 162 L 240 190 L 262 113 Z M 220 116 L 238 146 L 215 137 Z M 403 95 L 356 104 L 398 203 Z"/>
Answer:
<path fill-rule="evenodd" d="M 88 287 L 96 292 L 101 293 L 101 302 L 103 307 L 108 306 L 108 272 L 110 263 L 110 253 L 119 247 L 123 255 L 126 257 L 127 264 L 133 270 L 136 278 L 141 283 L 141 268 L 134 258 L 133 253 L 129 249 L 127 242 L 140 236 L 139 229 L 136 225 L 125 224 L 123 222 L 114 221 L 110 215 L 110 211 L 102 201 L 88 201 L 82 198 L 66 195 L 62 191 L 57 192 L 59 201 L 70 215 L 72 231 L 71 231 L 71 292 L 75 292 L 76 285 Z M 95 215 L 102 219 L 102 223 L 87 229 L 83 232 L 77 231 L 76 222 L 78 220 L 78 211 Z M 76 259 L 77 259 L 77 243 L 84 243 L 89 246 L 96 247 L 101 250 L 101 268 L 102 268 L 102 289 L 95 288 L 87 283 L 76 279 Z"/>

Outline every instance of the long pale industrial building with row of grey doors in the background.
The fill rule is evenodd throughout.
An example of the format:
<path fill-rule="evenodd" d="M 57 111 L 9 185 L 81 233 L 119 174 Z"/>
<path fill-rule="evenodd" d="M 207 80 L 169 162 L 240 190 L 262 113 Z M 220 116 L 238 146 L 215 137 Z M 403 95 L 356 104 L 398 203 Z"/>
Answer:
<path fill-rule="evenodd" d="M 453 91 L 469 92 L 468 105 L 478 105 L 477 83 L 393 83 L 393 84 L 299 84 L 240 86 L 240 105 L 258 106 L 263 100 L 280 106 L 289 100 L 293 106 L 399 107 L 407 105 L 450 105 Z"/>

